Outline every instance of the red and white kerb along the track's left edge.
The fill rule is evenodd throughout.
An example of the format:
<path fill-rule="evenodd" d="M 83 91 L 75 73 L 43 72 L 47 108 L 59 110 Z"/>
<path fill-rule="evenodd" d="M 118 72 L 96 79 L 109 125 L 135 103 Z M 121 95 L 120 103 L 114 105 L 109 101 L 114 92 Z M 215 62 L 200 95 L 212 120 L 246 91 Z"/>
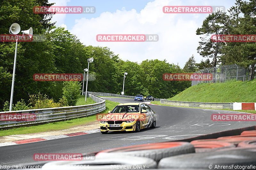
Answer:
<path fill-rule="evenodd" d="M 65 134 L 65 135 L 54 135 L 54 136 L 39 137 L 39 138 L 33 138 L 33 139 L 24 139 L 24 140 L 18 140 L 18 141 L 14 141 L 14 142 L 4 142 L 4 143 L 0 143 L 0 147 L 16 145 L 16 144 L 27 144 L 27 143 L 40 142 L 40 141 L 53 140 L 53 139 L 60 139 L 60 138 L 64 138 L 64 137 L 74 137 L 74 136 L 86 135 L 86 134 L 97 133 L 97 132 L 100 132 L 100 129 L 86 130 L 83 132 L 69 133 L 69 134 Z"/>

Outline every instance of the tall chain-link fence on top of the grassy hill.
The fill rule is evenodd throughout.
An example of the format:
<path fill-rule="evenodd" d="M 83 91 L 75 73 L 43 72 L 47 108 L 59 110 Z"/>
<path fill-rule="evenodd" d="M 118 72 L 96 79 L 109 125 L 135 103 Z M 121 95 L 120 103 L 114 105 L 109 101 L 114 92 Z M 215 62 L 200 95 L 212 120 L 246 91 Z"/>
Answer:
<path fill-rule="evenodd" d="M 249 80 L 249 69 L 239 67 L 236 64 L 205 68 L 196 71 L 196 73 L 212 73 L 212 80 L 192 81 L 191 86 L 197 85 L 198 83 L 223 83 L 231 79 L 235 79 L 237 81 Z"/>

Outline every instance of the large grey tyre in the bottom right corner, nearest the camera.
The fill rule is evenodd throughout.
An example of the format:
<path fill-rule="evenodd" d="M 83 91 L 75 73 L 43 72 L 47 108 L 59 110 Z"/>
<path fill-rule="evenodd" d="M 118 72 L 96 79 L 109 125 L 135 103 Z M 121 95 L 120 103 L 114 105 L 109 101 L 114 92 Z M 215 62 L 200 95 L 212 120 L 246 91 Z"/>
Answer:
<path fill-rule="evenodd" d="M 251 148 L 234 148 L 225 151 L 189 153 L 163 158 L 159 161 L 158 168 L 200 169 L 209 167 L 210 169 L 214 169 L 215 166 L 256 165 L 255 155 L 255 150 Z"/>

